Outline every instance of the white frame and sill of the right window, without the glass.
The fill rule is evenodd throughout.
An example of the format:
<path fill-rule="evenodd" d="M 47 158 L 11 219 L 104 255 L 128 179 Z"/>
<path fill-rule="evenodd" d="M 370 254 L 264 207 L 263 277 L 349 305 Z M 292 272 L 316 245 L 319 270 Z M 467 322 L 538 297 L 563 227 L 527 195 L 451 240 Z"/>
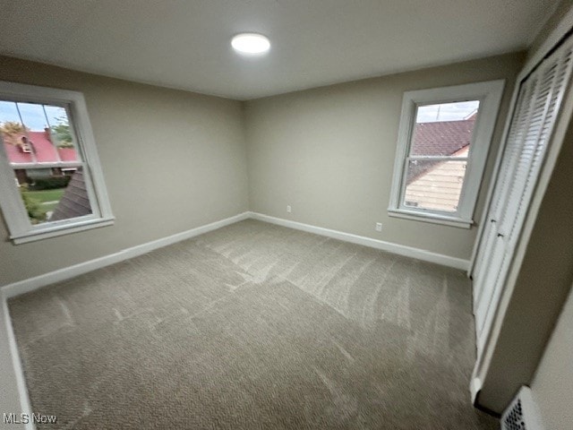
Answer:
<path fill-rule="evenodd" d="M 492 142 L 504 86 L 505 80 L 497 80 L 429 90 L 406 91 L 404 93 L 388 207 L 390 217 L 432 222 L 459 228 L 472 227 L 474 224 L 475 204 Z M 404 202 L 407 163 L 410 158 L 417 107 L 469 100 L 479 100 L 480 105 L 472 133 L 472 142 L 466 157 L 466 176 L 459 196 L 458 210 L 456 212 L 446 212 L 406 206 Z M 423 157 L 415 156 L 415 158 L 420 159 Z M 451 158 L 460 161 L 465 159 L 465 157 L 451 156 L 440 156 L 438 158 L 444 160 Z M 436 159 L 436 157 L 429 157 L 429 159 Z"/>

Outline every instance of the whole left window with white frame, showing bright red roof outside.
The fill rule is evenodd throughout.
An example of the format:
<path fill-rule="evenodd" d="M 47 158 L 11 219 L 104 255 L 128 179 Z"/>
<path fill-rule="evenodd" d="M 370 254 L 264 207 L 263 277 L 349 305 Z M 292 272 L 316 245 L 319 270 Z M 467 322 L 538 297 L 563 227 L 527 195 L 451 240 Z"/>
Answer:
<path fill-rule="evenodd" d="M 0 206 L 15 244 L 113 223 L 83 95 L 0 82 Z"/>

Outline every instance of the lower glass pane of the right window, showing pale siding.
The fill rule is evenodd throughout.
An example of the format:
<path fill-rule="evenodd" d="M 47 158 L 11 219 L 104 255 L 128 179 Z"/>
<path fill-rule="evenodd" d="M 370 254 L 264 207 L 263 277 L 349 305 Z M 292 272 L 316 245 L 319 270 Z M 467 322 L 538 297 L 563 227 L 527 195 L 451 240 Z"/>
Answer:
<path fill-rule="evenodd" d="M 434 211 L 458 211 L 466 164 L 466 160 L 410 160 L 404 205 Z"/>

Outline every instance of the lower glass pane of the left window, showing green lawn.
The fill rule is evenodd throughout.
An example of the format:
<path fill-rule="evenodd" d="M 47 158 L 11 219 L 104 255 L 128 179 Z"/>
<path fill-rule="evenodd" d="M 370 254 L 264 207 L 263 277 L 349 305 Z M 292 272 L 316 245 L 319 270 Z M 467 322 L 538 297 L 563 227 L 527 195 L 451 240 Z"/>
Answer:
<path fill-rule="evenodd" d="M 81 168 L 16 168 L 14 175 L 32 224 L 91 213 Z"/>

